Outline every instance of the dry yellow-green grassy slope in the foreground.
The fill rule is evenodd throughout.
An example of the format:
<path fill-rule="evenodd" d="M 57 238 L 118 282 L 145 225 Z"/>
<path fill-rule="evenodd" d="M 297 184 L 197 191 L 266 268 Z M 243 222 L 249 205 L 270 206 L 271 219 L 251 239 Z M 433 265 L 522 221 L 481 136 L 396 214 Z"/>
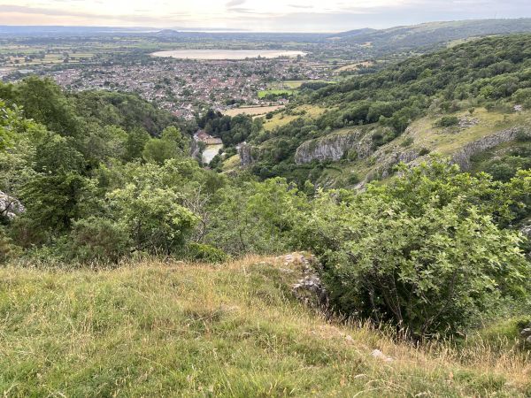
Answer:
<path fill-rule="evenodd" d="M 525 396 L 530 364 L 409 348 L 295 302 L 296 265 L 0 270 L 6 396 Z M 347 336 L 351 336 L 347 337 Z M 373 358 L 380 348 L 396 361 Z"/>

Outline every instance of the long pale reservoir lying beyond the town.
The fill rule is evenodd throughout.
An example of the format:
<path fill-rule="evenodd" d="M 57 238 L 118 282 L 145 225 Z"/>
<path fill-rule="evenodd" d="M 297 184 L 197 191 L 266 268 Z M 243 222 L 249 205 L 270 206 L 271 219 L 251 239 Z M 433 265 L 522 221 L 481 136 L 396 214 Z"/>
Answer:
<path fill-rule="evenodd" d="M 278 57 L 304 57 L 303 51 L 291 50 L 164 50 L 151 54 L 152 57 L 173 57 L 180 59 L 203 60 L 240 60 L 245 58 L 278 58 Z"/>

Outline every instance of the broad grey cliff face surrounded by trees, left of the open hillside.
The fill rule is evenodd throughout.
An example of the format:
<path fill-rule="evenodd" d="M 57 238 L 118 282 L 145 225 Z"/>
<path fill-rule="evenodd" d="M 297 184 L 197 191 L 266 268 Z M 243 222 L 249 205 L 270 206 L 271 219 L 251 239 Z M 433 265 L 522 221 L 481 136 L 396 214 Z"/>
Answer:
<path fill-rule="evenodd" d="M 303 165 L 313 160 L 336 162 L 350 149 L 357 152 L 359 159 L 368 157 L 372 153 L 372 142 L 369 134 L 352 130 L 347 134 L 331 134 L 304 142 L 296 149 L 295 163 Z"/>

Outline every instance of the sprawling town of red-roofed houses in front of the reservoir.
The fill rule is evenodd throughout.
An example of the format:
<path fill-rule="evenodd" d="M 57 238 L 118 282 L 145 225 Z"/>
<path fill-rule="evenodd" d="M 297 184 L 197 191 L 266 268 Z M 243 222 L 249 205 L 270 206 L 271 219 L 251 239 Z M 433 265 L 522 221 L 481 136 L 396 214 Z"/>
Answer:
<path fill-rule="evenodd" d="M 271 90 L 282 81 L 329 80 L 326 63 L 304 57 L 244 60 L 142 58 L 133 63 L 41 66 L 22 73 L 50 76 L 73 90 L 106 89 L 135 93 L 175 116 L 194 119 L 202 111 L 227 111 L 240 105 L 266 106 L 289 102 L 290 91 Z M 19 71 L 20 72 L 20 71 Z M 23 76 L 22 76 L 23 77 Z M 12 79 L 16 81 L 19 79 Z"/>

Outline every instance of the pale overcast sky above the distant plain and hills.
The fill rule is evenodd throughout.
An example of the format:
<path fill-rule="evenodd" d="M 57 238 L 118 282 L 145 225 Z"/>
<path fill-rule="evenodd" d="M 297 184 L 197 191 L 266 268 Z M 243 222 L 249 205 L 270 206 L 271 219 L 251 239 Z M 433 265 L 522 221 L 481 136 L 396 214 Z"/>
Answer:
<path fill-rule="evenodd" d="M 519 17 L 531 17 L 531 0 L 0 0 L 0 25 L 339 32 Z"/>

